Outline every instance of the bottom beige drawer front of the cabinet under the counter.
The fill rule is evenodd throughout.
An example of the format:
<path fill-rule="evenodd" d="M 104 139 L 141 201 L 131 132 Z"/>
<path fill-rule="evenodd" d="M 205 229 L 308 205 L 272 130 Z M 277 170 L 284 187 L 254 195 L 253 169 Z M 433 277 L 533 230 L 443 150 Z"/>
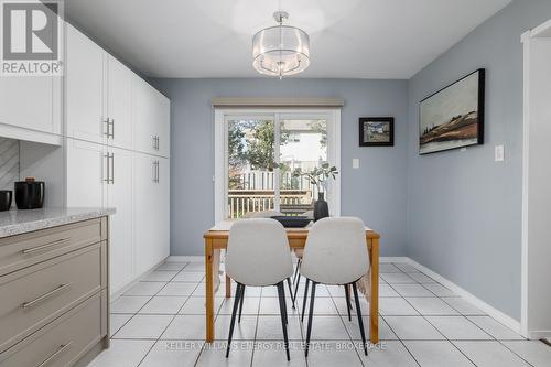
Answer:
<path fill-rule="evenodd" d="M 72 366 L 105 335 L 101 333 L 100 322 L 105 303 L 105 296 L 95 294 L 0 354 L 0 367 Z"/>

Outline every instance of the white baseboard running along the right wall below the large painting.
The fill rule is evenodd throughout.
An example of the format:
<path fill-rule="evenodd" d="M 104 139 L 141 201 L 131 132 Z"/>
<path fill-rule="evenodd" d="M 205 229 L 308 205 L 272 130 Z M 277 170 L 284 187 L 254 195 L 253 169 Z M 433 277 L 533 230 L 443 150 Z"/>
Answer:
<path fill-rule="evenodd" d="M 520 331 L 520 322 L 512 319 L 511 316 L 506 315 L 501 311 L 495 309 L 494 306 L 489 305 L 488 303 L 484 302 L 483 300 L 478 299 L 477 296 L 473 295 L 472 293 L 465 291 L 463 288 L 460 285 L 455 284 L 454 282 L 445 279 L 441 274 L 432 271 L 431 269 L 420 265 L 419 262 L 414 261 L 413 259 L 409 258 L 408 261 L 411 266 L 415 267 L 417 269 L 421 270 L 424 272 L 426 276 L 431 277 L 442 285 L 449 288 L 451 291 L 453 291 L 455 294 L 463 296 L 465 300 L 469 301 L 473 303 L 475 306 L 480 309 L 482 311 L 486 312 L 489 316 L 494 317 L 505 326 L 514 330 L 515 332 L 522 334 Z M 526 336 L 526 335 L 525 335 Z"/>

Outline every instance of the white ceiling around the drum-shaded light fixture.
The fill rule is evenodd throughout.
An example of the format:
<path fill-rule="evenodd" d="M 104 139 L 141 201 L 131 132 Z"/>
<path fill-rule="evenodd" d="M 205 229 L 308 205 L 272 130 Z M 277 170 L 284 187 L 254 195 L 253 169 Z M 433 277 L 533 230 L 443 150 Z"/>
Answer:
<path fill-rule="evenodd" d="M 278 9 L 310 33 L 301 77 L 409 78 L 510 0 L 65 0 L 77 28 L 147 76 L 256 77 Z"/>

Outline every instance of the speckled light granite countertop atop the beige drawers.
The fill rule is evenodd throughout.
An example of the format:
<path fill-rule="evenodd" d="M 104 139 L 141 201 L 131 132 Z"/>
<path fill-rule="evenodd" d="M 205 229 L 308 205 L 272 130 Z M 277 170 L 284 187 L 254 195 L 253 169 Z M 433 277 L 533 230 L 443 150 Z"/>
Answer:
<path fill-rule="evenodd" d="M 0 212 L 0 238 L 115 214 L 114 208 L 43 208 Z"/>

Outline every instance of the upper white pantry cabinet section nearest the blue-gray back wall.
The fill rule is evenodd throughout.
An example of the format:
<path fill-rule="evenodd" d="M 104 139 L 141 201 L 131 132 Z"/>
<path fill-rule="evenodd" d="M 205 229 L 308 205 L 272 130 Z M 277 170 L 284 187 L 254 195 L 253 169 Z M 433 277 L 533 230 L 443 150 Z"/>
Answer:
<path fill-rule="evenodd" d="M 170 100 L 142 79 L 132 83 L 132 120 L 137 151 L 170 155 Z"/>

